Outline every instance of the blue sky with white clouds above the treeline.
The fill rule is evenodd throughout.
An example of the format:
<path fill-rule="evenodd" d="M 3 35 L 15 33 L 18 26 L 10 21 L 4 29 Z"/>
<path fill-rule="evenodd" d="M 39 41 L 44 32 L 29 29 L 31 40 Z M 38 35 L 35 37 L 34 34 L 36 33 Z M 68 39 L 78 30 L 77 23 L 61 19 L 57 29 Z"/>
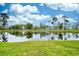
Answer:
<path fill-rule="evenodd" d="M 69 17 L 69 20 L 74 23 L 79 19 L 79 4 L 0 3 L 0 13 L 7 13 L 9 15 L 8 26 L 27 23 L 32 23 L 37 26 L 40 23 L 46 25 L 54 16 L 61 17 L 63 15 Z"/>

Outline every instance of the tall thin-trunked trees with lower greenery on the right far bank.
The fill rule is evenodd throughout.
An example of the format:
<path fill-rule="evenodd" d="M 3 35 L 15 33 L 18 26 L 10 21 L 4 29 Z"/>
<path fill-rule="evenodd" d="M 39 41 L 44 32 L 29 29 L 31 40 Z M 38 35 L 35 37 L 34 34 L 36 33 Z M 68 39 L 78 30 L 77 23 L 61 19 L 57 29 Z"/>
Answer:
<path fill-rule="evenodd" d="M 54 25 L 58 20 L 59 19 L 57 17 L 53 17 L 53 19 L 50 21 L 50 23 Z M 53 29 L 67 30 L 67 29 L 70 29 L 70 27 L 72 27 L 72 29 L 78 30 L 78 24 L 75 24 L 75 25 L 69 24 L 68 17 L 62 16 L 62 20 L 63 20 L 63 22 L 61 23 L 61 21 L 59 21 L 56 26 L 55 25 L 53 26 Z"/>

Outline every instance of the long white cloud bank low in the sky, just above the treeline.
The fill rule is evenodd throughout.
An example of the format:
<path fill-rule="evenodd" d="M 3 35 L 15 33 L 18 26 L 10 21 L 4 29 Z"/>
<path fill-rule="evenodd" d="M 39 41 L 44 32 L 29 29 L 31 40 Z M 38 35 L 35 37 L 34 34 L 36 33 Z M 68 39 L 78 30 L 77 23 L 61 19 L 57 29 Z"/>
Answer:
<path fill-rule="evenodd" d="M 40 24 L 40 21 L 43 20 L 49 20 L 50 16 L 49 15 L 32 15 L 29 14 L 28 17 L 24 17 L 23 15 L 16 15 L 15 16 L 10 16 L 10 18 L 8 19 L 8 26 L 11 25 L 15 25 L 15 24 L 27 24 L 27 23 L 31 23 L 33 25 Z M 10 24 L 10 25 L 9 25 Z"/>

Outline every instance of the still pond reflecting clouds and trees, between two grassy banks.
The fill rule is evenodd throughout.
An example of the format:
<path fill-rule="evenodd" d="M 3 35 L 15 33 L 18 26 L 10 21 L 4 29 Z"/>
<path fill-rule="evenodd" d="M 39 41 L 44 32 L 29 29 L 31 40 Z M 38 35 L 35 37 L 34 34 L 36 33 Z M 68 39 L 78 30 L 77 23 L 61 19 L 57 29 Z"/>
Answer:
<path fill-rule="evenodd" d="M 0 33 L 0 42 L 24 42 L 30 40 L 79 40 L 79 33 Z"/>

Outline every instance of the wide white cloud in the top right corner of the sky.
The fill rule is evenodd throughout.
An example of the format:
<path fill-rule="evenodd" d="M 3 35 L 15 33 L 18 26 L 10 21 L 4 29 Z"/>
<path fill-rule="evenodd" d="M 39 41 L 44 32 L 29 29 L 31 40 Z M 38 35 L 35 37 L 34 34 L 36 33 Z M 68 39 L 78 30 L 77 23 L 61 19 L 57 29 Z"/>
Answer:
<path fill-rule="evenodd" d="M 52 9 L 58 9 L 60 8 L 63 11 L 74 11 L 77 10 L 79 8 L 79 4 L 78 3 L 47 3 L 45 4 L 48 7 L 52 8 Z"/>

